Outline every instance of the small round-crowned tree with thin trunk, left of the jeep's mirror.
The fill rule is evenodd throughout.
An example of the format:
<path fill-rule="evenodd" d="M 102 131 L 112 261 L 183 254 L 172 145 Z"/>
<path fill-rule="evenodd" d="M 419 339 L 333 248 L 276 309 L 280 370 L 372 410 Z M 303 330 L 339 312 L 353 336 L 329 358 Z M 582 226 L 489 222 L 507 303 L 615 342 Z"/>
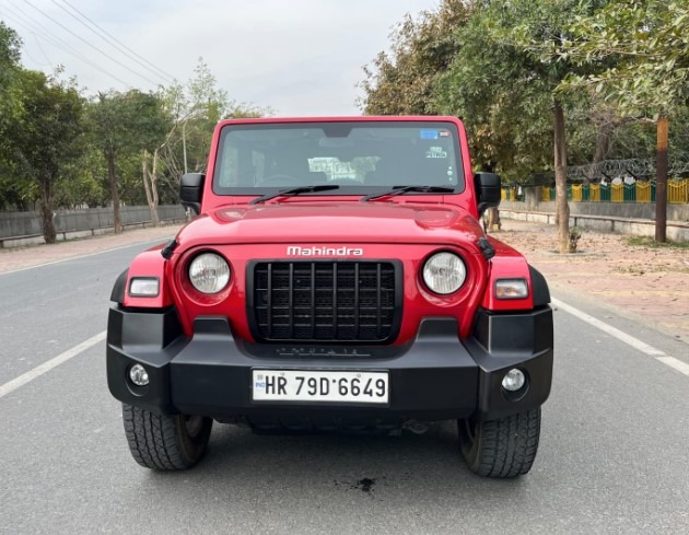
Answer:
<path fill-rule="evenodd" d="M 139 90 L 100 93 L 89 106 L 89 121 L 91 142 L 98 148 L 107 165 L 115 233 L 120 233 L 118 162 L 132 154 L 140 158 L 143 150 L 155 150 L 164 139 L 168 121 L 162 113 L 161 98 Z"/>

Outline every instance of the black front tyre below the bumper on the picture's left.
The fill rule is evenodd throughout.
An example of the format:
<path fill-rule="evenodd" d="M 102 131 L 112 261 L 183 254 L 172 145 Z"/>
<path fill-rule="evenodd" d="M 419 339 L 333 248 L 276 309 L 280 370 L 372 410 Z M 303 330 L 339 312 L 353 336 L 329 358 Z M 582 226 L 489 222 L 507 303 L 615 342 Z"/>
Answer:
<path fill-rule="evenodd" d="M 160 416 L 126 404 L 122 420 L 135 461 L 157 470 L 183 470 L 198 463 L 213 426 L 205 416 Z"/>

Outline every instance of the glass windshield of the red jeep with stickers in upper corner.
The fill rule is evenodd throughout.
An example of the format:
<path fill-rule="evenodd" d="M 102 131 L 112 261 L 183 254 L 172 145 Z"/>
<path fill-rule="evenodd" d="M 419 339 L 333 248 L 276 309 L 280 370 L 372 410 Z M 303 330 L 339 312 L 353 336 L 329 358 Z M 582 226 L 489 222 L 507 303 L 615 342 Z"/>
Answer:
<path fill-rule="evenodd" d="M 459 193 L 457 139 L 455 125 L 442 121 L 229 125 L 220 137 L 213 190 L 265 195 L 337 185 L 328 195 L 371 195 L 395 186 Z"/>

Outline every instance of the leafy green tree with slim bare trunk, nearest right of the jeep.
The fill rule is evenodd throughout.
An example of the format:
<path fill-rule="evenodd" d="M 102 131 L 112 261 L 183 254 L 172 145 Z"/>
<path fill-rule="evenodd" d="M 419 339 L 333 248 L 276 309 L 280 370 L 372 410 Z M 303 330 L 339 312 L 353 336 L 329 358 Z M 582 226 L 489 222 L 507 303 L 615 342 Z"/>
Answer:
<path fill-rule="evenodd" d="M 557 89 L 575 70 L 575 66 L 562 60 L 554 50 L 568 39 L 567 27 L 572 18 L 591 12 L 597 3 L 594 0 L 480 2 L 481 9 L 471 18 L 464 35 L 460 35 L 464 45 L 474 45 L 474 51 L 468 47 L 462 49 L 453 63 L 449 85 L 445 86 L 445 94 L 467 94 L 459 101 L 464 101 L 469 109 L 488 111 L 483 115 L 475 115 L 484 124 L 492 125 L 491 119 L 495 114 L 502 116 L 502 130 L 507 132 L 502 137 L 506 141 L 507 155 L 510 139 L 519 139 L 515 137 L 519 129 L 534 130 L 534 126 L 525 124 L 525 120 L 538 118 L 539 121 L 535 123 L 538 125 L 542 114 L 551 114 L 561 253 L 567 253 L 569 244 L 565 109 L 573 102 L 568 102 Z M 586 68 L 593 69 L 591 66 Z M 509 120 L 505 121 L 505 118 Z M 489 133 L 494 135 L 494 131 L 493 127 Z M 528 143 L 528 136 L 522 139 Z M 528 153 L 528 150 L 522 152 Z"/>

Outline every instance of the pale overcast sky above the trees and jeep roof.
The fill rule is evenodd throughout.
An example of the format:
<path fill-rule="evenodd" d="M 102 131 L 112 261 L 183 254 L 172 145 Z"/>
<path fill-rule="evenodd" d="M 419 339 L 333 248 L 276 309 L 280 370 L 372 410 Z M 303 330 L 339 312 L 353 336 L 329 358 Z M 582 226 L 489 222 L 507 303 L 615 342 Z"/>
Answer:
<path fill-rule="evenodd" d="M 362 67 L 388 48 L 395 24 L 439 2 L 0 0 L 0 19 L 22 37 L 24 67 L 51 72 L 61 63 L 87 93 L 151 90 L 167 84 L 165 77 L 187 81 L 202 57 L 235 101 L 282 116 L 351 115 L 359 114 Z M 143 66 L 81 24 L 82 15 Z"/>

